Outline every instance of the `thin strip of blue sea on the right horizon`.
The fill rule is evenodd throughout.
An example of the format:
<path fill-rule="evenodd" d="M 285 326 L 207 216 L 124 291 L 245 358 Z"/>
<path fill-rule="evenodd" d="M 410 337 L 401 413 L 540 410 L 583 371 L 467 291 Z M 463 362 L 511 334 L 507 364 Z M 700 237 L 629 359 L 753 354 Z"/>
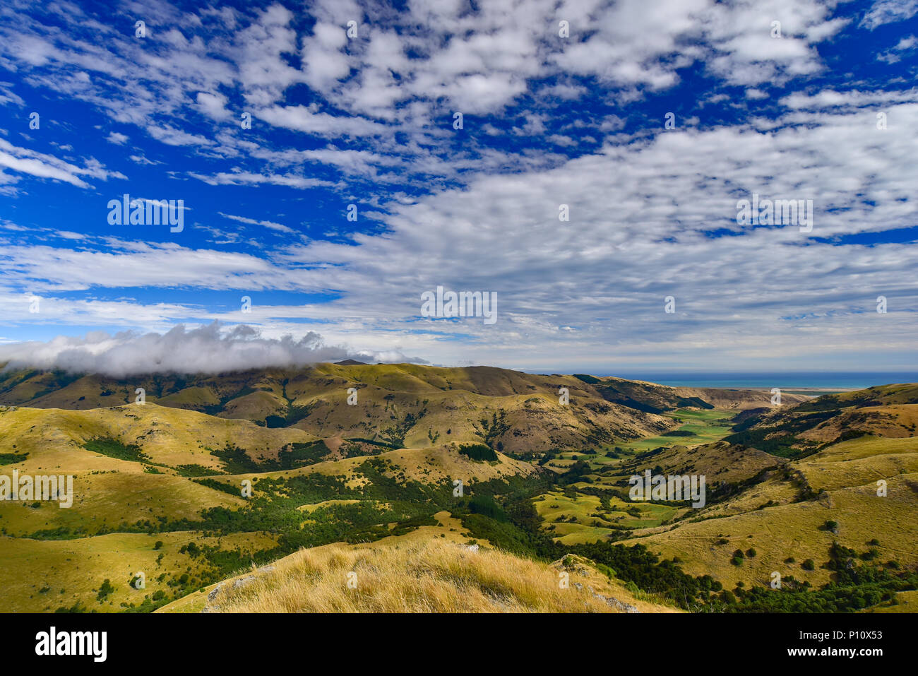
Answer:
<path fill-rule="evenodd" d="M 599 376 L 600 374 L 593 374 Z M 918 371 L 787 371 L 787 372 L 703 372 L 688 371 L 618 371 L 602 374 L 648 380 L 676 388 L 736 389 L 864 389 L 890 383 L 918 383 Z"/>

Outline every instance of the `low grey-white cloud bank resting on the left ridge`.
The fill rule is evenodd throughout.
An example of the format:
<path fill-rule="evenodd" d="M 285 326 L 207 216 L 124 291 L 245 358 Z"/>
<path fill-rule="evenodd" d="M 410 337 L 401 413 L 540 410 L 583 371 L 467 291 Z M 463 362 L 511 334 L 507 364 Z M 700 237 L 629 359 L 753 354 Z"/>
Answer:
<path fill-rule="evenodd" d="M 190 331 L 184 324 L 166 333 L 89 332 L 84 337 L 58 336 L 38 341 L 0 345 L 0 363 L 11 368 L 60 368 L 72 373 L 126 377 L 146 373 L 219 373 L 249 368 L 292 367 L 357 359 L 367 363 L 426 364 L 398 352 L 353 352 L 341 345 L 325 345 L 322 336 L 308 332 L 297 339 L 263 338 L 251 326 L 232 329 L 218 322 Z"/>

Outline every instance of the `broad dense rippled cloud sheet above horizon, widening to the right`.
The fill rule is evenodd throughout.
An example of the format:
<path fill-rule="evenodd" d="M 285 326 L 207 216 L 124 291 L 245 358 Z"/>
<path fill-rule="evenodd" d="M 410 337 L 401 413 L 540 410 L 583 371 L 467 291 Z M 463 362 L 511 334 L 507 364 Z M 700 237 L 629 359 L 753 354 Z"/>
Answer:
<path fill-rule="evenodd" d="M 330 340 L 372 340 L 438 363 L 642 358 L 747 368 L 784 355 L 805 368 L 808 360 L 837 366 L 820 360 L 844 355 L 869 360 L 865 345 L 877 360 L 904 359 L 918 302 L 911 242 L 833 242 L 912 226 L 918 95 L 787 98 L 789 112 L 764 129 L 754 120 L 610 137 L 601 151 L 553 167 L 479 174 L 462 188 L 388 205 L 376 215 L 386 231 L 355 233 L 346 244 L 287 243 L 263 258 L 139 242 L 118 242 L 114 254 L 12 246 L 0 272 L 18 287 L 44 283 L 49 294 L 128 285 L 340 289 L 330 302 L 266 304 L 252 316 L 272 332 L 297 318 L 319 321 Z M 876 127 L 879 107 L 888 130 Z M 737 200 L 753 192 L 812 198 L 812 233 L 737 225 Z M 558 220 L 560 204 L 569 222 Z M 438 285 L 497 291 L 498 323 L 420 318 L 420 293 Z M 663 311 L 667 295 L 677 298 L 676 315 Z M 875 311 L 879 295 L 890 299 L 889 314 Z M 159 325 L 215 316 L 190 305 L 72 306 L 51 299 L 42 317 Z M 22 299 L 4 307 L 9 322 L 36 319 Z"/>

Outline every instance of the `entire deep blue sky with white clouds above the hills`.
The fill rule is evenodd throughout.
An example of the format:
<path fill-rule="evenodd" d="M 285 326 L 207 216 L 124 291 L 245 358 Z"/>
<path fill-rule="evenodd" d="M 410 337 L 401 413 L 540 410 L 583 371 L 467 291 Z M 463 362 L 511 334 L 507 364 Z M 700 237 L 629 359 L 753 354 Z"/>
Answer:
<path fill-rule="evenodd" d="M 0 358 L 914 370 L 916 14 L 7 0 Z M 812 230 L 739 224 L 754 193 Z M 438 286 L 498 321 L 422 316 Z"/>

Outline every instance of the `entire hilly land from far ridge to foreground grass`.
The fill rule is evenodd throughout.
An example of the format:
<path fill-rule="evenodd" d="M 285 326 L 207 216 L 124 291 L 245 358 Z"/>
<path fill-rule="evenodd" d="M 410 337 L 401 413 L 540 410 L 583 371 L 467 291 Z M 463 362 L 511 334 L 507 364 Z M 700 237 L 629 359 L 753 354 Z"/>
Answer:
<path fill-rule="evenodd" d="M 0 610 L 621 610 L 599 593 L 890 612 L 918 588 L 916 386 L 767 410 L 768 392 L 487 367 L 151 377 L 147 403 L 118 403 L 134 387 L 0 377 L 18 402 L 0 407 L 0 475 L 67 474 L 75 493 L 0 501 Z M 704 476 L 704 506 L 633 501 L 645 470 Z M 555 592 L 559 566 L 576 594 Z M 354 568 L 371 584 L 341 596 Z"/>

